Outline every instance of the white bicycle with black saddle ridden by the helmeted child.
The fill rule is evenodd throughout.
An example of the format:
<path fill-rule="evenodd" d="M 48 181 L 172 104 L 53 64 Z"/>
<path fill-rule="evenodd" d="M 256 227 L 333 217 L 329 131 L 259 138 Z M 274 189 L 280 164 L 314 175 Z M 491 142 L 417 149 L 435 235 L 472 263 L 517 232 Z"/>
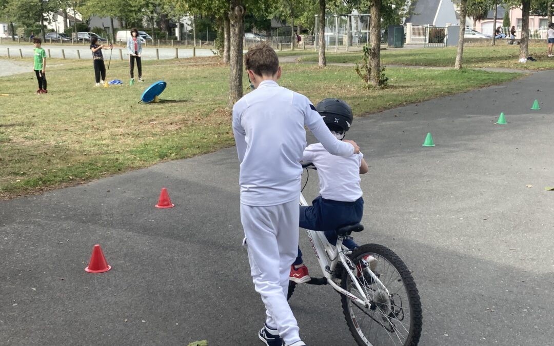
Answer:
<path fill-rule="evenodd" d="M 302 166 L 308 173 L 303 191 L 307 170 L 316 168 Z M 308 205 L 302 193 L 300 205 Z M 307 283 L 328 284 L 340 293 L 348 329 L 358 345 L 417 345 L 422 308 L 416 283 L 400 257 L 387 247 L 365 244 L 350 250 L 342 245 L 351 233 L 362 230 L 361 224 L 338 228 L 336 246 L 329 244 L 323 232 L 306 230 L 323 273 L 322 278 L 312 277 Z M 289 281 L 287 299 L 295 288 L 296 283 Z"/>

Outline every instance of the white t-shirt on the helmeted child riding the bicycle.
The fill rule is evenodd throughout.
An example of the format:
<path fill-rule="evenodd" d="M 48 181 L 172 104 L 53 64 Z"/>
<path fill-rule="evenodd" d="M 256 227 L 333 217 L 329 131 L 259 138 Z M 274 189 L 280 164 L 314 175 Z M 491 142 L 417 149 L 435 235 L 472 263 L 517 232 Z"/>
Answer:
<path fill-rule="evenodd" d="M 317 167 L 319 193 L 322 198 L 354 202 L 362 197 L 360 187 L 360 166 L 363 154 L 335 156 L 321 143 L 310 144 L 304 150 L 302 161 L 311 162 Z"/>

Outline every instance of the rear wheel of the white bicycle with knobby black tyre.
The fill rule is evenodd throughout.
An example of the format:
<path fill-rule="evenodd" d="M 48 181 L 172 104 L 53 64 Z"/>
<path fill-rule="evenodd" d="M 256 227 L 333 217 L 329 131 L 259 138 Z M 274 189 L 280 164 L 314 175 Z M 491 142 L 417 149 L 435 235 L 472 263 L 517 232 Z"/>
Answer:
<path fill-rule="evenodd" d="M 367 274 L 370 270 L 364 259 L 367 255 L 377 260 L 371 267 L 389 294 L 379 289 Z M 378 244 L 358 247 L 352 251 L 350 259 L 357 268 L 354 272 L 363 293 L 371 300 L 370 308 L 366 308 L 341 295 L 346 323 L 358 345 L 417 345 L 422 329 L 422 309 L 416 283 L 404 262 L 392 250 Z M 346 270 L 342 271 L 341 286 L 361 297 Z"/>

